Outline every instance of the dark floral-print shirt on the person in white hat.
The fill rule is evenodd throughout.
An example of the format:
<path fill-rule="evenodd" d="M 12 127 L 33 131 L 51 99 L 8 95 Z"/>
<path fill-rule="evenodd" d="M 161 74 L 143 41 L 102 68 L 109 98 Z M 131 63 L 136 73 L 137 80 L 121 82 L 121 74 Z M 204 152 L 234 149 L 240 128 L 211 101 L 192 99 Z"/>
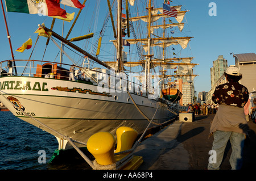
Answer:
<path fill-rule="evenodd" d="M 215 104 L 243 107 L 249 99 L 247 88 L 238 82 L 227 82 L 216 87 L 212 95 Z"/>

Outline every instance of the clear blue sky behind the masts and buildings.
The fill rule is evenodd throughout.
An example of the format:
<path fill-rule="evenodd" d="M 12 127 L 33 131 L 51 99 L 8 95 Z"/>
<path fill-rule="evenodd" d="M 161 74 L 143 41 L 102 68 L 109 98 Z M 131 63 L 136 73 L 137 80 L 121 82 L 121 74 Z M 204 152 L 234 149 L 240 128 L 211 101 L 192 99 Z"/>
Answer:
<path fill-rule="evenodd" d="M 94 5 L 90 4 L 90 1 L 88 0 L 85 3 L 82 13 L 96 13 L 93 11 Z M 143 2 L 142 0 L 137 1 Z M 154 1 L 159 4 L 163 2 L 163 0 Z M 82 3 L 83 1 L 80 0 L 80 2 Z M 100 4 L 106 4 L 105 0 L 98 2 Z M 214 6 L 212 6 L 212 3 L 214 3 Z M 219 55 L 223 55 L 228 60 L 229 66 L 235 63 L 233 54 L 230 53 L 256 53 L 255 0 L 173 0 L 173 4 L 182 5 L 182 10 L 189 10 L 183 20 L 186 23 L 185 26 L 187 26 L 183 31 L 188 36 L 193 36 L 187 49 L 189 54 L 194 57 L 192 63 L 199 64 L 194 69 L 194 74 L 199 75 L 194 79 L 197 94 L 201 91 L 207 92 L 210 90 L 210 68 L 213 66 L 213 61 L 217 60 Z M 79 11 L 71 7 L 67 7 L 66 10 L 67 12 L 76 12 L 76 14 Z M 105 6 L 103 9 L 98 9 L 97 11 L 105 15 L 107 10 L 108 6 Z M 44 22 L 47 27 L 50 27 L 52 18 L 7 12 L 7 21 L 15 59 L 28 59 L 32 49 L 26 50 L 24 53 L 15 52 L 15 50 L 27 41 L 29 37 L 35 42 L 37 35 L 34 32 L 38 28 L 38 24 Z M 82 34 L 83 32 L 81 32 L 80 27 L 86 27 L 89 23 L 93 24 L 92 28 L 102 26 L 100 24 L 102 23 L 102 19 L 97 15 L 94 19 L 82 19 L 76 25 L 76 30 L 71 33 L 70 37 L 74 36 L 75 33 L 78 33 L 78 36 L 86 34 Z M 0 60 L 9 60 L 11 59 L 11 53 L 2 12 L 0 13 L 0 24 Z M 65 24 L 68 24 L 68 26 L 71 25 L 71 23 Z M 61 26 L 61 21 L 56 22 L 53 31 Z M 84 46 L 82 43 L 78 44 Z M 45 47 L 45 43 L 40 47 L 36 47 L 32 59 L 36 59 L 38 56 L 42 57 Z M 55 50 L 53 45 L 49 45 L 49 47 L 50 50 Z M 47 49 L 47 51 L 49 50 Z M 46 60 L 55 58 L 48 52 L 45 57 Z"/>

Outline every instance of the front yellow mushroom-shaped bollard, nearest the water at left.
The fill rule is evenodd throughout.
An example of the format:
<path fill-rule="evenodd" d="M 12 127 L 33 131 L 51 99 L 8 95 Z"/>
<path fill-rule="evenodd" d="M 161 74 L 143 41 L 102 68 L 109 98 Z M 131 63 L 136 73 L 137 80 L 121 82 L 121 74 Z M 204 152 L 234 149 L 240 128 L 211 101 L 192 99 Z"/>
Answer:
<path fill-rule="evenodd" d="M 87 149 L 100 165 L 111 165 L 114 159 L 115 137 L 109 132 L 93 134 L 87 141 Z"/>

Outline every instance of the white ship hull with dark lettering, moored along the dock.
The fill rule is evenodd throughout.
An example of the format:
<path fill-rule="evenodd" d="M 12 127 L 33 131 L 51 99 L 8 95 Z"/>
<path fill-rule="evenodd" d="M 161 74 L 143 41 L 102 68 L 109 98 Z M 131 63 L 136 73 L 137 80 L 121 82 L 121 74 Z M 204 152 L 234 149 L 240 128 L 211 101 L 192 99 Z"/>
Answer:
<path fill-rule="evenodd" d="M 127 92 L 110 89 L 109 93 L 99 92 L 98 86 L 88 83 L 37 77 L 1 77 L 0 85 L 1 102 L 16 117 L 56 136 L 59 149 L 68 149 L 70 145 L 56 133 L 14 108 L 11 102 L 55 131 L 82 142 L 101 131 L 115 134 L 121 126 L 132 127 L 142 133 L 149 123 Z M 156 112 L 151 126 L 176 117 L 166 104 L 146 96 L 130 95 L 139 110 L 149 119 Z"/>

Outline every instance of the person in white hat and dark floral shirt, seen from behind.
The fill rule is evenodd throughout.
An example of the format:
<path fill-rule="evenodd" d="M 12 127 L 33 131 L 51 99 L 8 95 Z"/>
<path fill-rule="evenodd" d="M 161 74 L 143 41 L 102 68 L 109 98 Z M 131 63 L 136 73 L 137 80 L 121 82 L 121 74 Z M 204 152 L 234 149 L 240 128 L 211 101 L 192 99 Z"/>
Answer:
<path fill-rule="evenodd" d="M 217 86 L 212 95 L 213 102 L 220 106 L 210 125 L 209 136 L 214 138 L 212 150 L 216 151 L 216 159 L 209 158 L 208 170 L 220 169 L 229 140 L 232 145 L 230 165 L 232 169 L 242 167 L 242 149 L 248 129 L 243 106 L 247 103 L 249 92 L 239 83 L 242 74 L 238 68 L 230 66 L 224 74 L 227 82 Z"/>

